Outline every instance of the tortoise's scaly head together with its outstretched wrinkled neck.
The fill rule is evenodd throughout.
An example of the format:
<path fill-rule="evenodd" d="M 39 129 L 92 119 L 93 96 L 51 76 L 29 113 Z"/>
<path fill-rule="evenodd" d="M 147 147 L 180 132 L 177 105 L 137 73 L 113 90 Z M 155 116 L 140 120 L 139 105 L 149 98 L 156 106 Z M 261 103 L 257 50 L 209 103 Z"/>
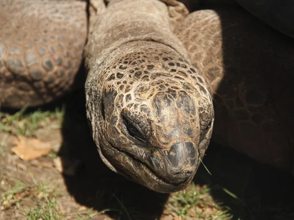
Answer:
<path fill-rule="evenodd" d="M 161 193 L 192 181 L 214 112 L 166 4 L 110 2 L 85 47 L 87 117 L 103 162 Z"/>

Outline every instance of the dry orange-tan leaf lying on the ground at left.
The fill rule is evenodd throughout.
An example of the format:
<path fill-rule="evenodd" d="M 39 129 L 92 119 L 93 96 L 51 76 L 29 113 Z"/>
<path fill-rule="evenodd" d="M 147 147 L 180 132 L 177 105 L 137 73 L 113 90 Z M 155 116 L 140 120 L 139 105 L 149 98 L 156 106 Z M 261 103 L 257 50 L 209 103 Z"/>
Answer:
<path fill-rule="evenodd" d="M 39 139 L 26 137 L 19 137 L 19 140 L 15 142 L 16 147 L 11 151 L 18 155 L 22 160 L 33 160 L 44 155 L 47 155 L 52 150 L 51 144 L 42 142 Z"/>

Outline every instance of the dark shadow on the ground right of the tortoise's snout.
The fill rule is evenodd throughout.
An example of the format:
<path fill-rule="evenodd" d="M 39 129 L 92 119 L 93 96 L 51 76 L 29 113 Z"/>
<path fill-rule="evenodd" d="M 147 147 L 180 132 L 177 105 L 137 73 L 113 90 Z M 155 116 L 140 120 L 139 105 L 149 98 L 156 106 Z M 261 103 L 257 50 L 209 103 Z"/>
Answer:
<path fill-rule="evenodd" d="M 235 220 L 294 219 L 293 176 L 214 143 L 206 154 L 203 163 L 212 175 L 201 166 L 194 182 L 210 186 Z"/>

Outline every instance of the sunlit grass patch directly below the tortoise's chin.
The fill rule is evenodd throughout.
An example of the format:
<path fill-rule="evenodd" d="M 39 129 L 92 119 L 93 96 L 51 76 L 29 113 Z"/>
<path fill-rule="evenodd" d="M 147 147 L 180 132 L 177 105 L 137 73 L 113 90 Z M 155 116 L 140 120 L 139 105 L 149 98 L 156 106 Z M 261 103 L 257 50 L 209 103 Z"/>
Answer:
<path fill-rule="evenodd" d="M 166 204 L 167 210 L 180 220 L 203 218 L 205 220 L 229 220 L 232 215 L 210 196 L 210 188 L 192 184 L 186 191 L 172 194 Z"/>

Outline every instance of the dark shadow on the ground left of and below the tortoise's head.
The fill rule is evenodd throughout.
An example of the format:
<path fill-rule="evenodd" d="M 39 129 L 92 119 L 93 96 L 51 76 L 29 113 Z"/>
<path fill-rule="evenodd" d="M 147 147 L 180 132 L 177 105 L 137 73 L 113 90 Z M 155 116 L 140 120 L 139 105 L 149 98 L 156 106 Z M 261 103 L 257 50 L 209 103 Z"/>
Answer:
<path fill-rule="evenodd" d="M 86 120 L 83 91 L 68 97 L 60 154 L 82 161 L 75 176 L 64 179 L 75 200 L 113 219 L 155 220 L 168 195 L 159 194 L 112 172 L 99 157 Z"/>

